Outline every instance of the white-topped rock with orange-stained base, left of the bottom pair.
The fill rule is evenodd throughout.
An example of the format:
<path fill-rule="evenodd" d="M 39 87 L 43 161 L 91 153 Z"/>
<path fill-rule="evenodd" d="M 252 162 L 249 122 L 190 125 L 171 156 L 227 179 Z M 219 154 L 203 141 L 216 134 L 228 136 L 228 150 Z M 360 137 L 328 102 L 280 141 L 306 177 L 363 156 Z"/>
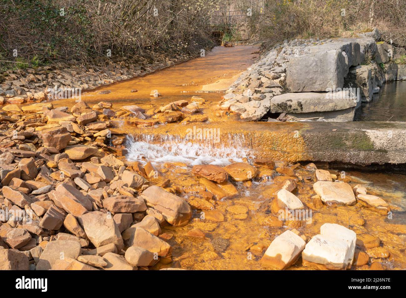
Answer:
<path fill-rule="evenodd" d="M 285 269 L 298 259 L 305 245 L 300 236 L 287 230 L 272 241 L 259 262 Z"/>

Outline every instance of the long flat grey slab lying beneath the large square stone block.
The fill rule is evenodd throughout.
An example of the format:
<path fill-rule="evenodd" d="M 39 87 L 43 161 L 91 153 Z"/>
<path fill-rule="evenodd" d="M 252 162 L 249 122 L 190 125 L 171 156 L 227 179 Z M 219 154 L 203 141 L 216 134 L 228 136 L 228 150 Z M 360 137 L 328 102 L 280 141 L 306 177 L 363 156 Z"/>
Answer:
<path fill-rule="evenodd" d="M 299 92 L 276 95 L 271 99 L 272 113 L 310 113 L 345 110 L 356 106 L 349 91 Z"/>

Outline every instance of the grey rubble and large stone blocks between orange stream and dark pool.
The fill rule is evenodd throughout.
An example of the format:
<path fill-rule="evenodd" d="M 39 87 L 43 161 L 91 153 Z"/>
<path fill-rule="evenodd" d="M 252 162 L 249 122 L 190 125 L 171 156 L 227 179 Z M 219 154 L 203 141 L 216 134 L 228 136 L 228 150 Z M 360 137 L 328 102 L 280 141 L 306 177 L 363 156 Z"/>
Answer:
<path fill-rule="evenodd" d="M 406 79 L 406 65 L 394 62 L 405 50 L 379 39 L 374 29 L 359 38 L 275 45 L 230 86 L 216 106 L 218 115 L 230 111 L 244 121 L 257 121 L 270 112 L 352 121 L 361 101 L 370 101 L 385 81 Z"/>

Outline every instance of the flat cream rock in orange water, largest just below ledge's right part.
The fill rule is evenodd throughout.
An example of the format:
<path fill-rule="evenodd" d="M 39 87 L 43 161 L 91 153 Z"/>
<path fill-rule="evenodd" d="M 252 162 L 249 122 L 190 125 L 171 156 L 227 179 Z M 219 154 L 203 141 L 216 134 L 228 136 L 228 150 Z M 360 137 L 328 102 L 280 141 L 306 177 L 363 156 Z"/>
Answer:
<path fill-rule="evenodd" d="M 351 186 L 345 182 L 317 181 L 313 184 L 313 189 L 326 204 L 354 205 L 356 203 Z"/>

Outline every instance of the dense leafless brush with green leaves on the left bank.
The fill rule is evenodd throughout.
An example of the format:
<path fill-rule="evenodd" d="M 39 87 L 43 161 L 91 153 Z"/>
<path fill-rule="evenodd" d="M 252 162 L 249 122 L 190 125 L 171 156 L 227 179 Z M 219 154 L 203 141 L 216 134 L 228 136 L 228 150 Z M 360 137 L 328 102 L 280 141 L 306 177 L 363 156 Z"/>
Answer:
<path fill-rule="evenodd" d="M 0 67 L 197 51 L 211 43 L 216 2 L 0 0 Z"/>

